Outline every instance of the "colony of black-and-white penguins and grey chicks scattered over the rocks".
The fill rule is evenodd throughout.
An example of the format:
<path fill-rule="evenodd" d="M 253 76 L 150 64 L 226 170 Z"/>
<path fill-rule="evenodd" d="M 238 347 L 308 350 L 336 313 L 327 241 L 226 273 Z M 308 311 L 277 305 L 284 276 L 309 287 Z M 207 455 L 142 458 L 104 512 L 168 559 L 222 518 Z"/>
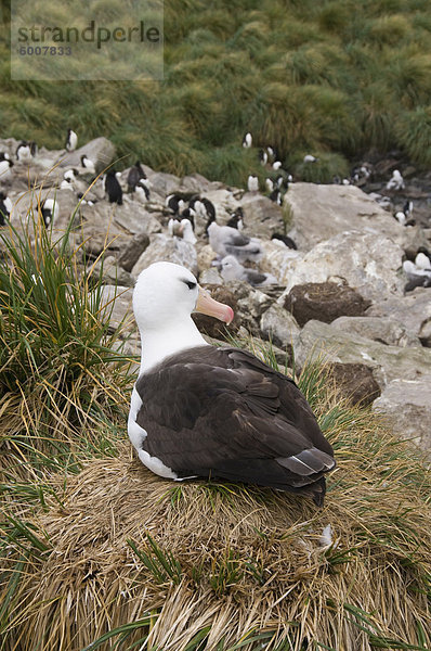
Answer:
<path fill-rule="evenodd" d="M 253 141 L 251 132 L 248 131 L 243 138 L 243 148 L 251 152 L 256 151 L 257 163 L 259 163 L 257 169 L 261 167 L 265 177 L 265 194 L 271 201 L 283 206 L 284 196 L 289 190 L 289 184 L 293 182 L 293 177 L 284 169 L 283 157 L 277 155 L 273 144 L 260 145 L 253 150 Z M 78 144 L 77 132 L 68 128 L 64 142 L 66 152 L 75 152 Z M 15 151 L 0 152 L 0 227 L 8 224 L 13 212 L 10 192 L 13 187 L 14 166 L 28 166 L 37 156 L 38 146 L 31 140 L 19 141 Z M 303 156 L 303 164 L 318 166 L 319 158 L 308 153 Z M 140 161 L 129 168 L 127 178 L 122 179 L 122 176 L 120 171 L 108 169 L 96 180 L 95 162 L 83 152 L 79 154 L 79 164 L 64 171 L 60 188 L 75 192 L 80 205 L 90 207 L 103 199 L 113 205 L 122 206 L 125 192 L 127 192 L 127 201 L 131 197 L 143 205 L 151 202 L 152 183 Z M 249 174 L 246 183 L 248 192 L 257 193 L 261 190 L 261 173 Z M 360 187 L 370 181 L 373 181 L 373 166 L 368 163 L 353 167 L 349 178 L 334 177 L 332 179 L 337 184 Z M 94 183 L 94 191 L 90 188 L 92 183 Z M 96 188 L 102 189 L 102 196 L 95 191 Z M 390 208 L 393 203 L 396 205 L 397 195 L 401 195 L 404 189 L 405 181 L 401 170 L 393 169 L 386 182 L 388 194 L 378 195 L 377 201 L 383 207 Z M 40 213 L 47 228 L 52 227 L 61 214 L 60 203 L 53 195 L 43 197 L 35 209 Z M 247 225 L 240 206 L 231 210 L 227 219 L 223 218 L 223 222 L 219 222 L 216 206 L 205 195 L 171 193 L 166 197 L 165 209 L 168 232 L 172 238 L 183 239 L 195 245 L 197 242 L 195 229 L 199 228 L 199 224 L 203 225 L 204 237 L 207 238 L 216 254 L 213 265 L 224 280 L 240 279 L 256 286 L 275 281 L 259 269 L 259 261 L 263 255 L 262 247 L 252 234 L 244 232 Z M 403 227 L 415 226 L 413 201 L 404 199 L 404 202 L 393 210 L 393 218 Z M 272 241 L 293 251 L 297 248 L 295 241 L 285 233 L 272 233 Z M 431 270 L 425 261 L 429 259 L 427 256 L 429 253 L 426 248 L 418 250 L 413 259 L 405 261 L 403 269 L 407 278 L 406 291 L 412 291 L 415 286 L 430 286 Z"/>

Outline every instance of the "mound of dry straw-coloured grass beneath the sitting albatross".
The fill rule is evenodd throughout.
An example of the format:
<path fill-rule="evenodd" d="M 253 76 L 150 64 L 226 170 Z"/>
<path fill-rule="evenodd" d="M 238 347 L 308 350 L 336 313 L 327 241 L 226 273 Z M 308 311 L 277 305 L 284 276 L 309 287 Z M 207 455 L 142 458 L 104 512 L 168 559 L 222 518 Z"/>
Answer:
<path fill-rule="evenodd" d="M 133 459 L 90 461 L 28 523 L 45 549 L 21 566 L 6 651 L 80 651 L 127 623 L 120 649 L 227 651 L 247 634 L 243 649 L 426 649 L 425 487 L 400 460 L 405 444 L 361 430 L 349 446 L 332 441 L 321 510 L 266 489 L 179 485 Z"/>

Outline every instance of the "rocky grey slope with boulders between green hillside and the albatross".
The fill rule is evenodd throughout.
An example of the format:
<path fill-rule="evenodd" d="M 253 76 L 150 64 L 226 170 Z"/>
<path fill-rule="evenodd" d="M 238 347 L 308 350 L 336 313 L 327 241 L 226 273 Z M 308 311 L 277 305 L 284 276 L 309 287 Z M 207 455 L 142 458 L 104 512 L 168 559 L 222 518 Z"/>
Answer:
<path fill-rule="evenodd" d="M 0 141 L 0 151 L 15 159 L 17 144 L 13 139 Z M 31 239 L 37 230 L 27 212 L 29 204 L 36 208 L 39 190 L 29 190 L 28 180 L 44 180 L 39 201 L 56 200 L 60 214 L 52 227 L 54 239 L 69 226 L 75 213 L 70 238 L 79 247 L 77 261 L 86 264 L 94 277 L 101 272 L 107 283 L 103 294 L 114 306 L 112 328 L 122 317 L 127 319 L 123 332 L 128 339 L 118 346 L 126 346 L 131 355 L 140 350 L 131 316 L 131 285 L 136 276 L 153 261 L 178 263 L 197 275 L 200 283 L 209 283 L 213 296 L 235 311 L 227 330 L 208 317 L 194 317 L 208 336 L 223 339 L 226 331 L 235 336 L 249 333 L 261 357 L 270 341 L 283 367 L 292 360 L 292 345 L 297 368 L 322 355 L 328 361 L 328 381 L 342 396 L 361 404 L 374 400 L 376 410 L 396 416 L 394 430 L 431 446 L 422 426 L 429 421 L 431 289 L 404 294 L 407 279 L 402 269 L 405 254 L 414 259 L 419 245 L 430 248 L 431 228 L 402 227 L 391 212 L 353 186 L 290 183 L 280 207 L 259 192 L 227 188 L 199 174 L 179 178 L 144 164 L 149 200 L 138 192 L 128 193 L 126 169 L 120 178 L 123 205 L 109 204 L 101 181 L 89 188 L 92 179 L 82 169 L 70 188 L 58 188 L 65 168 L 80 168 L 81 153 L 100 171 L 113 162 L 115 148 L 104 138 L 70 154 L 42 148 L 30 162 L 14 165 L 11 182 L 2 184 L 2 190 L 14 204 L 12 225 L 18 232 L 27 229 Z M 84 200 L 77 207 L 82 192 Z M 262 259 L 250 267 L 272 275 L 279 285 L 257 289 L 241 281 L 223 282 L 206 237 L 208 215 L 195 216 L 196 244 L 169 234 L 172 210 L 166 200 L 172 193 L 181 193 L 185 200 L 206 196 L 220 225 L 240 207 L 245 234 L 259 238 L 263 250 Z M 392 205 L 400 205 L 399 196 L 392 199 Z M 289 234 L 297 251 L 271 240 L 274 232 L 285 232 L 286 218 L 291 219 Z M 110 305 L 105 316 L 109 314 Z"/>

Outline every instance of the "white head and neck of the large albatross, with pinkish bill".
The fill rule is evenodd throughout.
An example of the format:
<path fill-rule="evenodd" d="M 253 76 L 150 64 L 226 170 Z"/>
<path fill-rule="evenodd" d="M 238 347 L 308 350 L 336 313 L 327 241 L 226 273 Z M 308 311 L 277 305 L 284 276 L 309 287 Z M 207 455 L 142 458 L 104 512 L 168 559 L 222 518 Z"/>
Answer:
<path fill-rule="evenodd" d="M 154 263 L 138 277 L 133 311 L 141 333 L 141 371 L 166 357 L 206 345 L 191 314 L 198 311 L 231 323 L 234 312 L 203 290 L 188 269 L 173 263 Z"/>

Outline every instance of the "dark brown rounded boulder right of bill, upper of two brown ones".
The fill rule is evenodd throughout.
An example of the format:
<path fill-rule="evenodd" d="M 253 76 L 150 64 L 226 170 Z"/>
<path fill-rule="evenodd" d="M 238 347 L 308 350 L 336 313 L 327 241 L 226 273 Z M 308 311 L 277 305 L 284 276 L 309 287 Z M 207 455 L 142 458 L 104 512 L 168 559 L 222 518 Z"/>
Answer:
<path fill-rule="evenodd" d="M 330 323 L 343 315 L 362 316 L 370 302 L 344 281 L 308 282 L 292 288 L 285 297 L 284 306 L 302 327 L 311 319 Z"/>

